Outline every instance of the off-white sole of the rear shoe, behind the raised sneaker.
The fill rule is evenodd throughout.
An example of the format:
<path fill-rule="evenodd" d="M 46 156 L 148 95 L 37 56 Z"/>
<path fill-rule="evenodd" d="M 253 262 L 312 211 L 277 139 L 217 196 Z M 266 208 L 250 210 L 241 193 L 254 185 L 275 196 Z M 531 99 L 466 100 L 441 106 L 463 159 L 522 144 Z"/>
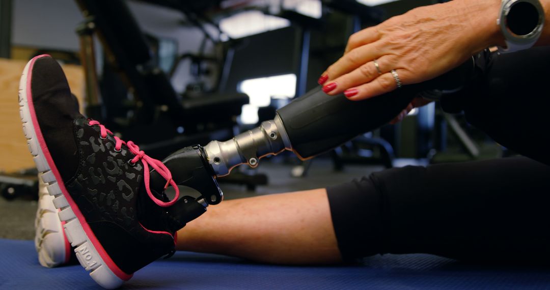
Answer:
<path fill-rule="evenodd" d="M 40 265 L 51 268 L 67 264 L 70 259 L 70 244 L 65 237 L 58 209 L 53 205 L 53 196 L 48 194 L 46 184 L 38 179 L 38 209 L 35 219 L 35 248 Z"/>

